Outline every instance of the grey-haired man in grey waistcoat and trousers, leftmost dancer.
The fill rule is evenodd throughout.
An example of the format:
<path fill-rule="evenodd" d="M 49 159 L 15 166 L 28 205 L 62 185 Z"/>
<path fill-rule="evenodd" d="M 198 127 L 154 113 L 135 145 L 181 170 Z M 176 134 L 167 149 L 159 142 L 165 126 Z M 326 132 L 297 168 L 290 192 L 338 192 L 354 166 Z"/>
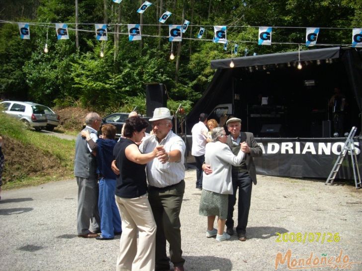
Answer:
<path fill-rule="evenodd" d="M 86 116 L 86 128 L 95 142 L 101 119 L 97 113 L 91 112 Z M 99 232 L 100 218 L 98 213 L 98 184 L 96 176 L 96 160 L 85 137 L 81 133 L 76 139 L 76 157 L 74 160 L 74 176 L 78 184 L 78 237 L 95 238 Z M 91 221 L 91 230 L 90 230 Z"/>

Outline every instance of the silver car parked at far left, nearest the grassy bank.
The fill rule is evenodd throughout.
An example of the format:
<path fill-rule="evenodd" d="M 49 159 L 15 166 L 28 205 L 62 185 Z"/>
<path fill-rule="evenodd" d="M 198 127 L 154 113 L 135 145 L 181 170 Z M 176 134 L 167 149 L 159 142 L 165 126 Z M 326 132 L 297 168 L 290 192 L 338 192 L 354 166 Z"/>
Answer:
<path fill-rule="evenodd" d="M 3 112 L 22 121 L 36 131 L 45 129 L 48 124 L 44 108 L 31 102 L 3 101 Z"/>

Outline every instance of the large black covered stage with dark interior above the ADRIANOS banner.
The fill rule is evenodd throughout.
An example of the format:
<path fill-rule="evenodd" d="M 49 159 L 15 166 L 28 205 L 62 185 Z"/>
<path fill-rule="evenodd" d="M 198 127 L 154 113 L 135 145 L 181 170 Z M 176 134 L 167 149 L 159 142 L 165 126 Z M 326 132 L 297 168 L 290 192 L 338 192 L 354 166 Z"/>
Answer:
<path fill-rule="evenodd" d="M 297 68 L 300 61 L 302 69 Z M 322 137 L 323 124 L 333 135 L 329 100 L 339 87 L 348 102 L 345 130 L 361 131 L 362 50 L 308 49 L 211 61 L 216 72 L 202 97 L 186 117 L 186 133 L 200 113 L 210 114 L 219 104 L 232 104 L 230 116 L 242 119 L 242 130 L 256 137 Z M 262 105 L 268 97 L 268 105 Z M 277 125 L 279 133 L 263 135 L 264 125 Z"/>

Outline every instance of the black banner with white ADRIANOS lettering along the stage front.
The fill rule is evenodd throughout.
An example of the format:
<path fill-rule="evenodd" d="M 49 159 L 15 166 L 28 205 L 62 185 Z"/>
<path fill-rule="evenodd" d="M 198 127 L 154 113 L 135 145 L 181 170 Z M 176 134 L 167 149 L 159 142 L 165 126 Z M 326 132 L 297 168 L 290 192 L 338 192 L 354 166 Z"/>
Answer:
<path fill-rule="evenodd" d="M 263 156 L 255 157 L 257 174 L 272 176 L 328 178 L 345 138 L 256 138 Z M 355 137 L 355 151 L 362 172 L 361 138 Z M 354 179 L 351 155 L 346 155 L 337 179 Z"/>

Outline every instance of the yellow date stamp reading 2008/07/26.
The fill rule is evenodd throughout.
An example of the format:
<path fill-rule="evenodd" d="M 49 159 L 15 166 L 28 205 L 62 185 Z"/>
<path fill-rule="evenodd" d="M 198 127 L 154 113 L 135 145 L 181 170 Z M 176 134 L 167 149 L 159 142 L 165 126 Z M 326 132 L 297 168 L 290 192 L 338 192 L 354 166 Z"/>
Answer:
<path fill-rule="evenodd" d="M 276 240 L 275 242 L 298 242 L 298 243 L 306 243 L 306 242 L 339 242 L 340 236 L 339 233 L 331 233 L 331 232 L 286 232 L 286 233 L 275 233 Z"/>

